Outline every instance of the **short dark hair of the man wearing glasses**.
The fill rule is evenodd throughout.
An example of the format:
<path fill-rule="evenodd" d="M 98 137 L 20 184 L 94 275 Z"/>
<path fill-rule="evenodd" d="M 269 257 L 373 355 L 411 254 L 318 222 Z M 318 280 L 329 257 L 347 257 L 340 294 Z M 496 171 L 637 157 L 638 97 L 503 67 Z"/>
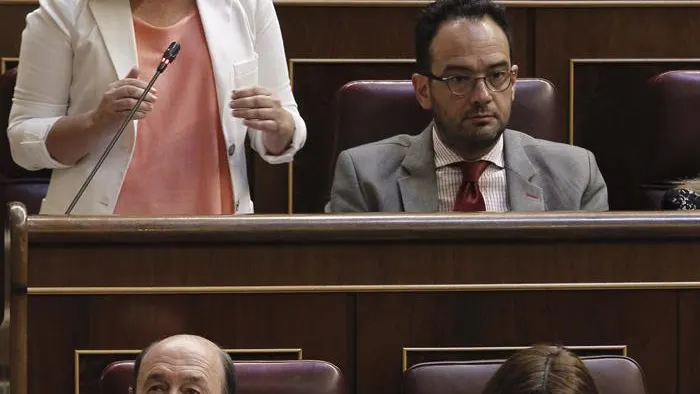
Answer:
<path fill-rule="evenodd" d="M 444 22 L 455 19 L 481 20 L 489 16 L 508 38 L 508 51 L 513 59 L 513 38 L 506 9 L 491 0 L 437 0 L 421 11 L 415 30 L 416 63 L 419 73 L 430 72 L 430 46 Z"/>

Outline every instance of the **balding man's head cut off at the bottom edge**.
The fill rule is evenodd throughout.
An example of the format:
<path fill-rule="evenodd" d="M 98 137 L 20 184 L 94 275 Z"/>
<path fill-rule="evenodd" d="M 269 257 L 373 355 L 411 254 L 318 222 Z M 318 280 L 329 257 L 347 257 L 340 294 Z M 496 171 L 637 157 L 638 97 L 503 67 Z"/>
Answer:
<path fill-rule="evenodd" d="M 234 394 L 231 357 L 213 342 L 194 335 L 175 335 L 144 349 L 134 362 L 130 394 Z"/>

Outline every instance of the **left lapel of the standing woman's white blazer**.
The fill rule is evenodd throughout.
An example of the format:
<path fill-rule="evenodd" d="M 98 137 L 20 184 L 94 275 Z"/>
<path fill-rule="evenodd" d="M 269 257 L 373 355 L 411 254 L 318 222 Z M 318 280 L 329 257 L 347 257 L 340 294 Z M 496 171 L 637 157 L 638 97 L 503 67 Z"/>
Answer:
<path fill-rule="evenodd" d="M 88 4 L 117 79 L 122 79 L 138 63 L 131 6 L 126 0 L 91 0 Z"/>

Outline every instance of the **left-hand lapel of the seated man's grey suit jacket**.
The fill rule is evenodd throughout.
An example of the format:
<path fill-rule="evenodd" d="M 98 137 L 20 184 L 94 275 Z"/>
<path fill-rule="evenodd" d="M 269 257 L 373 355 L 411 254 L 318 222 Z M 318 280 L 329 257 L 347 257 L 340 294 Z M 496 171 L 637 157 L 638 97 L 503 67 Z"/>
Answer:
<path fill-rule="evenodd" d="M 399 189 L 405 212 L 437 212 L 437 177 L 433 152 L 433 124 L 423 130 L 406 152 Z"/>

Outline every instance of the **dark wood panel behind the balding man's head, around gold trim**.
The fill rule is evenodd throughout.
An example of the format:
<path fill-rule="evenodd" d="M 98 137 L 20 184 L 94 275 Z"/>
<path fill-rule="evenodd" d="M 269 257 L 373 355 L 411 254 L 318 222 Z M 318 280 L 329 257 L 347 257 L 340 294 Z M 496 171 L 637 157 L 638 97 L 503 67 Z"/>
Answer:
<path fill-rule="evenodd" d="M 203 335 L 227 349 L 268 349 L 232 355 L 234 360 L 293 359 L 296 354 L 274 349 L 300 348 L 307 359 L 323 359 L 352 371 L 354 355 L 338 338 L 352 337 L 348 318 L 350 295 L 313 297 L 286 295 L 63 296 L 31 299 L 32 316 L 51 322 L 29 332 L 30 393 L 74 387 L 74 352 L 78 349 L 140 349 L 167 335 Z M 315 311 L 323 319 L 315 319 Z M 55 335 L 53 333 L 56 333 Z M 48 356 L 52 354 L 52 356 Z M 99 394 L 99 374 L 109 361 L 133 355 L 83 356 L 79 364 L 80 394 Z M 56 363 L 56 360 L 62 360 Z M 41 377 L 41 378 L 39 378 Z"/>

